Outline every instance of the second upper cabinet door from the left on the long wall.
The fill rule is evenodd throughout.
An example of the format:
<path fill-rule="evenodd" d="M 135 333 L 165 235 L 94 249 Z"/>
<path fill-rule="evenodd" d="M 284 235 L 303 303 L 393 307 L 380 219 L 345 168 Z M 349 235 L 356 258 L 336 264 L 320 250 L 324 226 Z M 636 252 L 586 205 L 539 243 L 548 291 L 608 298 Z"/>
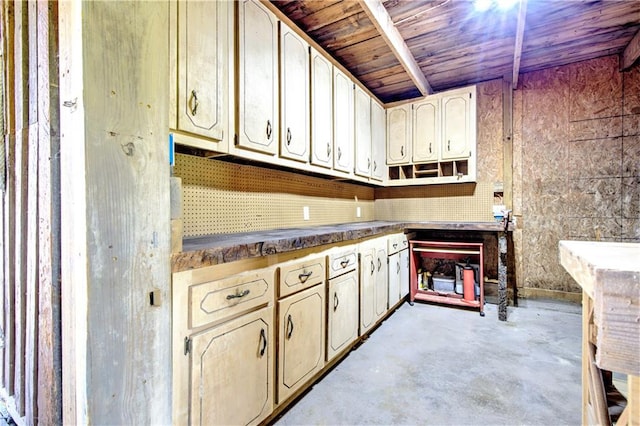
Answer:
<path fill-rule="evenodd" d="M 275 154 L 278 137 L 277 19 L 260 2 L 238 4 L 238 139 Z"/>

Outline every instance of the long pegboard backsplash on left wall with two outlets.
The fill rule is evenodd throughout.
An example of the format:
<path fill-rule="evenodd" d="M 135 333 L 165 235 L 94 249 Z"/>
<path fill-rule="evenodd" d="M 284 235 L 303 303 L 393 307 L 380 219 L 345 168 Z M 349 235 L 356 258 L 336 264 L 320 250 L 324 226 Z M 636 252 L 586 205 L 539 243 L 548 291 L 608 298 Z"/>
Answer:
<path fill-rule="evenodd" d="M 374 220 L 373 189 L 360 185 L 182 154 L 174 174 L 185 237 Z"/>

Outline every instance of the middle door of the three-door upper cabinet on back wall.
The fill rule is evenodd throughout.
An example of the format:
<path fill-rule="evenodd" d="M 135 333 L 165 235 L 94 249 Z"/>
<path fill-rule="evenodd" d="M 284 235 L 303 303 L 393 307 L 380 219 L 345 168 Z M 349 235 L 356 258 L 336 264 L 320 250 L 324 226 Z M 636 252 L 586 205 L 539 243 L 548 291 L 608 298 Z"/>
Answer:
<path fill-rule="evenodd" d="M 413 161 L 438 160 L 440 147 L 440 110 L 438 99 L 416 104 L 413 109 Z"/>

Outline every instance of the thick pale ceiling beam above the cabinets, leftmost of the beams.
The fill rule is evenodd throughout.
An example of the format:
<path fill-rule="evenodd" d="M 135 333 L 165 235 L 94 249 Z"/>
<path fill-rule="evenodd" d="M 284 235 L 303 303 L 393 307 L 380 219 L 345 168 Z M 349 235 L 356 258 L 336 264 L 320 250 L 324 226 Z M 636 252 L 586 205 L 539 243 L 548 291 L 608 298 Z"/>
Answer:
<path fill-rule="evenodd" d="M 416 62 L 416 58 L 413 57 L 409 47 L 405 43 L 404 39 L 400 35 L 398 29 L 393 25 L 393 21 L 382 4 L 381 0 L 359 0 L 360 6 L 364 12 L 369 16 L 371 22 L 376 27 L 384 41 L 393 51 L 393 54 L 398 58 L 400 64 L 404 67 L 409 74 L 409 77 L 416 85 L 420 93 L 423 95 L 429 95 L 433 93 L 427 78 L 420 69 L 420 66 Z"/>

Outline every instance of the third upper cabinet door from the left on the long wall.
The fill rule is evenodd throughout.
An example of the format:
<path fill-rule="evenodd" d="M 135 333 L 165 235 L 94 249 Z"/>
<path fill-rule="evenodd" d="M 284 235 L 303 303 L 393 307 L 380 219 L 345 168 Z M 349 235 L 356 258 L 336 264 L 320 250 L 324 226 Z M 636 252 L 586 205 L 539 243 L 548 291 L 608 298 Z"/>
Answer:
<path fill-rule="evenodd" d="M 309 45 L 280 22 L 280 156 L 309 160 Z"/>

